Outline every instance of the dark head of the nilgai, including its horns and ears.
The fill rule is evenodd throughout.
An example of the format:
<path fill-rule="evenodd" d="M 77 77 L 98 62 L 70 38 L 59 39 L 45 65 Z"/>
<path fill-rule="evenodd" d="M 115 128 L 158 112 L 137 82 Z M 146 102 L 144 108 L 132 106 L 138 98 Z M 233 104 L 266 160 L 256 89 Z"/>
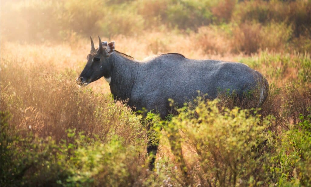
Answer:
<path fill-rule="evenodd" d="M 100 39 L 99 39 L 100 40 Z M 100 79 L 102 76 L 105 78 L 111 77 L 111 63 L 109 63 L 109 56 L 114 51 L 114 42 L 101 42 L 97 50 L 94 48 L 91 39 L 91 53 L 87 55 L 87 63 L 83 71 L 76 79 L 80 86 L 86 86 L 91 82 Z"/>

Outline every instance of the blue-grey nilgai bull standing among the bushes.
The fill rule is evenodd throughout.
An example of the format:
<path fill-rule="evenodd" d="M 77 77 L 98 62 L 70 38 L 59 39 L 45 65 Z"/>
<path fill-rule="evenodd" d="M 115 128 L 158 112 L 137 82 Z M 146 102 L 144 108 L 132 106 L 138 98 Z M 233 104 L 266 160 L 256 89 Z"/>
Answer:
<path fill-rule="evenodd" d="M 234 92 L 243 98 L 250 90 L 258 89 L 257 106 L 267 98 L 267 80 L 247 65 L 221 60 L 192 60 L 178 53 L 168 53 L 149 57 L 139 61 L 131 56 L 114 50 L 114 42 L 101 42 L 94 47 L 91 38 L 91 53 L 87 55 L 87 63 L 79 77 L 77 84 L 86 86 L 104 77 L 109 83 L 114 99 L 127 100 L 127 104 L 134 110 L 158 113 L 162 119 L 169 114 L 171 106 L 169 99 L 173 99 L 177 107 L 192 100 L 200 93 L 207 94 L 209 99 L 218 96 L 221 90 Z M 174 143 L 174 146 L 180 147 Z M 174 155 L 180 156 L 181 150 Z M 147 145 L 147 152 L 154 155 L 150 169 L 154 167 L 158 142 Z M 151 154 L 152 153 L 152 154 Z M 183 157 L 179 159 L 181 170 L 187 174 Z"/>

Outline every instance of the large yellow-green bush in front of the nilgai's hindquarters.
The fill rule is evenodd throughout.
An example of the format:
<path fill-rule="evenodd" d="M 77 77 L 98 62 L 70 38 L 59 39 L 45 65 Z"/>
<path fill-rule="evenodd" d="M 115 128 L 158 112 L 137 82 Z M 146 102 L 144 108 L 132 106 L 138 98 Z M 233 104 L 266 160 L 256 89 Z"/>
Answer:
<path fill-rule="evenodd" d="M 181 128 L 197 153 L 193 173 L 203 186 L 262 184 L 269 117 L 261 120 L 256 111 L 218 108 L 217 103 L 199 98 L 196 107 L 185 106 L 169 122 L 170 127 Z"/>

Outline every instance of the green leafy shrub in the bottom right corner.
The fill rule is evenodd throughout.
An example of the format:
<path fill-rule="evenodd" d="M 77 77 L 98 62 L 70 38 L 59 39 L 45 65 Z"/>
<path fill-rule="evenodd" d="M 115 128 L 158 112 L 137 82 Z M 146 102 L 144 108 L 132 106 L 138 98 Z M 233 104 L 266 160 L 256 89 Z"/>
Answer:
<path fill-rule="evenodd" d="M 270 180 L 279 186 L 311 184 L 311 116 L 302 116 L 299 128 L 279 135 L 276 152 L 271 156 Z"/>

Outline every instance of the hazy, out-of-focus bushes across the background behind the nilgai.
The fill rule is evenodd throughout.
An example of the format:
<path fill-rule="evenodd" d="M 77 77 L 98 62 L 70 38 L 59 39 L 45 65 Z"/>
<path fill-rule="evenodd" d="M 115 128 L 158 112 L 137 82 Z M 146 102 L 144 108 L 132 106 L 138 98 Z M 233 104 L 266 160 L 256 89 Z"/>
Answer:
<path fill-rule="evenodd" d="M 59 41 L 73 33 L 112 38 L 176 29 L 202 35 L 211 31 L 200 27 L 211 26 L 216 30 L 226 28 L 220 38 L 230 41 L 230 45 L 216 49 L 220 54 L 224 49 L 246 54 L 266 48 L 311 50 L 311 2 L 304 0 L 17 0 L 2 1 L 1 6 L 1 37 L 7 40 Z M 203 47 L 223 46 L 222 40 Z"/>

